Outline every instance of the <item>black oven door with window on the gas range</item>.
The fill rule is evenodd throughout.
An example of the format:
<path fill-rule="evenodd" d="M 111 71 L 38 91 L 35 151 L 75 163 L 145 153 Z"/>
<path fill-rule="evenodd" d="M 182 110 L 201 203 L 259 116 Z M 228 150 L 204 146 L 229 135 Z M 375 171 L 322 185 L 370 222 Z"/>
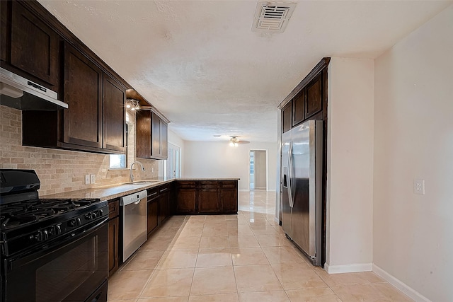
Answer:
<path fill-rule="evenodd" d="M 55 246 L 4 260 L 5 302 L 106 301 L 106 219 Z"/>

